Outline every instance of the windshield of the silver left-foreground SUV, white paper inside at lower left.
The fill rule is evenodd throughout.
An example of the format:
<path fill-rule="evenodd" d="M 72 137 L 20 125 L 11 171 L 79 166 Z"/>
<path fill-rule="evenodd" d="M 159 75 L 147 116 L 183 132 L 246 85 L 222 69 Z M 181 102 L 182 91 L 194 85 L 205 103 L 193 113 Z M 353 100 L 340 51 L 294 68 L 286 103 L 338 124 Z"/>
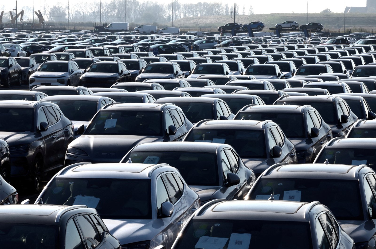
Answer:
<path fill-rule="evenodd" d="M 58 177 L 48 185 L 42 198 L 43 204 L 96 208 L 102 219 L 152 219 L 150 195 L 150 179 Z"/>

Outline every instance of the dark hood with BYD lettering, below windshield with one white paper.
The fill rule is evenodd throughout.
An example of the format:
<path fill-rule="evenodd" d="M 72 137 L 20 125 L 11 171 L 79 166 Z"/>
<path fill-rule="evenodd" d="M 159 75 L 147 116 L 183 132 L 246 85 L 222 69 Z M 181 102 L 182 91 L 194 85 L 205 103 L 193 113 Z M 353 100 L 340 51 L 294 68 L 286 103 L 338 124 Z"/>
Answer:
<path fill-rule="evenodd" d="M 85 151 L 91 162 L 120 162 L 123 156 L 134 146 L 155 142 L 160 136 L 131 135 L 81 135 L 70 143 L 70 147 Z"/>

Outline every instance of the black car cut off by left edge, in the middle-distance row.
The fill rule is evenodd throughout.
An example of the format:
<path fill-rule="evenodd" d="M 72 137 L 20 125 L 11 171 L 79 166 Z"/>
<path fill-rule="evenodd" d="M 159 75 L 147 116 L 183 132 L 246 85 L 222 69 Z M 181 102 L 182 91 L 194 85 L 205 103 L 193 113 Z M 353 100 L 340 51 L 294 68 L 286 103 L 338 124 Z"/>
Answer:
<path fill-rule="evenodd" d="M 22 68 L 13 57 L 0 57 L 1 83 L 10 87 L 12 82 L 18 86 L 22 84 Z"/>

